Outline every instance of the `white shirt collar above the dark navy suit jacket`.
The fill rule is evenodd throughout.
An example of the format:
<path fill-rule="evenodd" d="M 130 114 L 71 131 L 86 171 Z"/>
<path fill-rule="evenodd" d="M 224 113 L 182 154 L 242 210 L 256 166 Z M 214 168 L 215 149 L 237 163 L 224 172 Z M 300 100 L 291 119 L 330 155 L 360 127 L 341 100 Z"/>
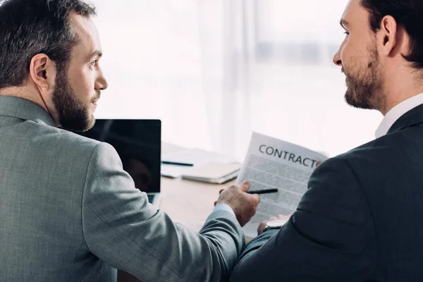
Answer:
<path fill-rule="evenodd" d="M 395 123 L 398 118 L 407 113 L 407 111 L 410 111 L 421 104 L 423 104 L 423 93 L 408 98 L 405 101 L 400 102 L 400 104 L 394 106 L 390 111 L 388 111 L 388 113 L 386 113 L 384 119 L 379 125 L 379 128 L 377 128 L 375 133 L 376 138 L 386 135 L 389 128 L 391 128 L 393 123 Z"/>

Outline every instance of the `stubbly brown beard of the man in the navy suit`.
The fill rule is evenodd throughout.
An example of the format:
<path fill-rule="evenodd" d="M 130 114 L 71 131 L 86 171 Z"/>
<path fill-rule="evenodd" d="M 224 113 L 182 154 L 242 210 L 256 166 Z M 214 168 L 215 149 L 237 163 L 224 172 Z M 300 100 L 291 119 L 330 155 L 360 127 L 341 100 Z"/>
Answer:
<path fill-rule="evenodd" d="M 358 67 L 357 60 L 353 62 L 353 74 L 345 71 L 345 82 L 347 91 L 345 92 L 345 102 L 357 109 L 384 109 L 386 97 L 384 97 L 384 83 L 381 80 L 381 70 L 379 68 L 379 56 L 376 48 L 369 51 L 370 59 L 367 68 Z"/>

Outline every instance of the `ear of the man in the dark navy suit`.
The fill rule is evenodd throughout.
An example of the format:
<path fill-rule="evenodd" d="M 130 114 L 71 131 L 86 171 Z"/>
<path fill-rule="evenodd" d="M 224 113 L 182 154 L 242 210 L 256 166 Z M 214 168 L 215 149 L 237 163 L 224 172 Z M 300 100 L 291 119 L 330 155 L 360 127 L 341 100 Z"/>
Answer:
<path fill-rule="evenodd" d="M 384 56 L 392 55 L 392 52 L 398 48 L 398 26 L 395 18 L 392 16 L 384 16 L 377 33 L 377 40 L 381 47 L 382 54 L 384 54 Z"/>

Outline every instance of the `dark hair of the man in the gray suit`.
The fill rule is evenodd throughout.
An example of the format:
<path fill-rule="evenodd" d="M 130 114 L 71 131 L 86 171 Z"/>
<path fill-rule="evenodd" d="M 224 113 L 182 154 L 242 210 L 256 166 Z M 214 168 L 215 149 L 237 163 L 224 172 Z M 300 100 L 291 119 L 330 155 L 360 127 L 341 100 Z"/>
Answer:
<path fill-rule="evenodd" d="M 3 3 L 3 4 L 2 4 Z M 69 13 L 94 16 L 80 0 L 0 0 L 0 89 L 27 80 L 32 57 L 47 54 L 63 71 L 78 37 Z"/>

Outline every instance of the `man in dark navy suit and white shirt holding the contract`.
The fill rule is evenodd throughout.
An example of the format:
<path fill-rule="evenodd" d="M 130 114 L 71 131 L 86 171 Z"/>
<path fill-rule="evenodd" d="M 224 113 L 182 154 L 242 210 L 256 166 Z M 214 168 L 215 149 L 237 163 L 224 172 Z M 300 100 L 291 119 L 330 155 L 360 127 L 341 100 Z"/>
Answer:
<path fill-rule="evenodd" d="M 298 209 L 245 247 L 231 281 L 423 281 L 423 1 L 350 0 L 348 104 L 376 140 L 321 164 Z"/>

